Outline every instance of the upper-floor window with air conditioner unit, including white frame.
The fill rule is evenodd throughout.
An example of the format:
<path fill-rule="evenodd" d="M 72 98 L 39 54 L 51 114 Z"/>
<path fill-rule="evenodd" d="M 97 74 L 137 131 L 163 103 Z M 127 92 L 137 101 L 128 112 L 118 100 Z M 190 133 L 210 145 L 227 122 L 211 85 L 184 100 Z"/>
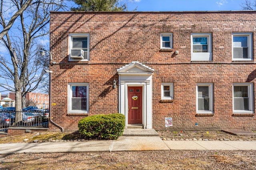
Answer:
<path fill-rule="evenodd" d="M 69 61 L 89 60 L 89 33 L 72 33 L 69 35 Z"/>

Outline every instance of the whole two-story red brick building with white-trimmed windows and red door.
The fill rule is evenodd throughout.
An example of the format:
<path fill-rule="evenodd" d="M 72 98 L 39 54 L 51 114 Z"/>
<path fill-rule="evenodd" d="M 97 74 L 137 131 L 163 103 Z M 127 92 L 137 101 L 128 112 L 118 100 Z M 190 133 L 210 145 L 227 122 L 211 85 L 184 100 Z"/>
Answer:
<path fill-rule="evenodd" d="M 126 127 L 256 129 L 255 11 L 50 17 L 51 130 L 117 112 Z"/>

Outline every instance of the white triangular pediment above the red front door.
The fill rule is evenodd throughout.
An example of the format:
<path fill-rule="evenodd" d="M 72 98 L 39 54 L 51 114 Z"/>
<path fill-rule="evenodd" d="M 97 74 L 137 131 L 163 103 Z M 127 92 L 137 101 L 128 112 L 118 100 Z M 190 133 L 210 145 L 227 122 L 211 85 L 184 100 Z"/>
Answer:
<path fill-rule="evenodd" d="M 117 69 L 118 74 L 152 74 L 154 69 L 139 63 L 138 61 L 133 61 L 119 69 Z"/>

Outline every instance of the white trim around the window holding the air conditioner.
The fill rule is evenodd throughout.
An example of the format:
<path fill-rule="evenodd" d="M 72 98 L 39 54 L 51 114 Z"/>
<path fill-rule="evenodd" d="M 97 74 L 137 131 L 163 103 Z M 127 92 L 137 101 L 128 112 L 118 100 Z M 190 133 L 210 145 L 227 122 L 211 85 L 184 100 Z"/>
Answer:
<path fill-rule="evenodd" d="M 70 57 L 72 48 L 72 37 L 87 37 L 87 59 L 72 59 Z M 89 61 L 90 58 L 90 34 L 89 33 L 70 33 L 68 35 L 68 61 Z"/>

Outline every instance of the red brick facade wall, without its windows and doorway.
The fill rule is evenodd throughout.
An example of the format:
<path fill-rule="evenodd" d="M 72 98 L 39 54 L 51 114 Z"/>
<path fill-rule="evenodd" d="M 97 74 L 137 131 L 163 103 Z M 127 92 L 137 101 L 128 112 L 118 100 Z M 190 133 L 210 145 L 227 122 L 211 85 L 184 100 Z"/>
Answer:
<path fill-rule="evenodd" d="M 85 115 L 68 114 L 68 83 L 89 83 L 89 115 L 118 112 L 116 69 L 139 61 L 155 70 L 152 125 L 164 129 L 256 129 L 255 116 L 232 114 L 232 83 L 254 82 L 254 62 L 232 62 L 232 32 L 252 32 L 256 42 L 256 12 L 52 12 L 52 120 L 65 131 L 77 129 Z M 173 33 L 173 51 L 160 50 L 160 33 Z M 191 33 L 212 33 L 212 61 L 191 62 Z M 68 61 L 68 34 L 90 33 L 90 61 Z M 253 58 L 256 47 L 253 44 Z M 179 54 L 175 55 L 174 51 Z M 174 102 L 163 103 L 161 82 L 174 82 Z M 196 83 L 214 84 L 214 115 L 196 115 Z M 118 82 L 117 82 L 118 84 Z M 254 110 L 255 110 L 254 84 Z M 195 127 L 198 123 L 198 127 Z M 53 128 L 50 125 L 50 129 Z"/>

